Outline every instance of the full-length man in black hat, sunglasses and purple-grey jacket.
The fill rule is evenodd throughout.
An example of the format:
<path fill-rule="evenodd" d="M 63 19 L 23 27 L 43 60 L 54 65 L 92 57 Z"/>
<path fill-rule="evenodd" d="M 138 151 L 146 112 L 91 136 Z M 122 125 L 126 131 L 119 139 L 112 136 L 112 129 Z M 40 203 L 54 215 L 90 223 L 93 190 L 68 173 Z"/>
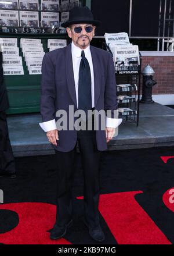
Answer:
<path fill-rule="evenodd" d="M 100 22 L 93 19 L 87 7 L 75 7 L 70 10 L 70 18 L 61 26 L 67 28 L 72 38 L 67 47 L 45 54 L 42 62 L 42 92 L 40 126 L 56 150 L 57 170 L 57 215 L 50 238 L 59 239 L 66 234 L 72 223 L 72 187 L 76 144 L 82 156 L 84 169 L 84 222 L 90 236 L 96 241 L 104 241 L 104 232 L 99 220 L 99 165 L 100 153 L 107 150 L 107 142 L 113 138 L 119 125 L 114 111 L 117 109 L 114 62 L 111 54 L 103 49 L 92 47 L 90 41 L 95 35 L 95 27 Z M 77 116 L 70 110 L 110 111 L 112 115 L 98 122 L 96 116 L 85 121 L 86 127 L 92 123 L 92 129 L 71 129 L 77 123 Z M 71 109 L 72 109 L 71 108 Z M 56 125 L 60 116 L 56 111 L 67 113 L 67 129 L 60 130 Z M 74 115 L 74 116 L 73 116 Z M 96 120 L 97 121 L 97 120 Z M 58 132 L 59 130 L 59 132 Z"/>

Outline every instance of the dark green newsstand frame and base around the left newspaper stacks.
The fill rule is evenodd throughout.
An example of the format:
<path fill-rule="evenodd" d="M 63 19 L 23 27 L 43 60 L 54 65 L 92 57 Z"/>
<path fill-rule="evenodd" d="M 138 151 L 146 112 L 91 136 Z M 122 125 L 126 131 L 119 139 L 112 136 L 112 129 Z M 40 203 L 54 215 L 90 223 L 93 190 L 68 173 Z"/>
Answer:
<path fill-rule="evenodd" d="M 24 75 L 10 75 L 5 76 L 6 88 L 8 91 L 10 108 L 6 113 L 31 113 L 39 112 L 40 108 L 40 94 L 41 94 L 41 74 L 29 74 L 24 61 L 21 48 L 20 38 L 40 38 L 44 51 L 48 52 L 47 41 L 52 39 L 67 39 L 67 35 L 56 34 L 43 34 L 43 35 L 30 35 L 30 34 L 3 34 L 2 37 L 17 38 L 17 46 L 19 47 L 19 56 L 22 56 Z"/>

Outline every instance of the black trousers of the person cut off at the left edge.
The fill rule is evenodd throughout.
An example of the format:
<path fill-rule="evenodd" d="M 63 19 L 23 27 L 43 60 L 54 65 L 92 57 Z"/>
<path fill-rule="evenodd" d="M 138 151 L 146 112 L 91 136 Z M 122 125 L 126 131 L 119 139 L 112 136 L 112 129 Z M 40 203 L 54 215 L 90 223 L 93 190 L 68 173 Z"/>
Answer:
<path fill-rule="evenodd" d="M 15 173 L 13 151 L 9 140 L 5 111 L 0 111 L 0 173 Z"/>

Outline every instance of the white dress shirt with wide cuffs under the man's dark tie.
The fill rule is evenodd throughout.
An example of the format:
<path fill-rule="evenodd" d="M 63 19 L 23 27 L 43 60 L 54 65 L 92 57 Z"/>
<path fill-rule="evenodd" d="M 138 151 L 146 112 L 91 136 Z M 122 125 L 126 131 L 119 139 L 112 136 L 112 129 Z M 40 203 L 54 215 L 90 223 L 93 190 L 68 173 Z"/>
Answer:
<path fill-rule="evenodd" d="M 73 58 L 75 93 L 76 93 L 77 108 L 78 108 L 78 73 L 79 73 L 79 66 L 80 66 L 80 62 L 81 62 L 82 49 L 77 47 L 72 41 L 71 52 L 72 52 L 72 58 Z M 91 56 L 91 52 L 90 52 L 90 46 L 88 46 L 86 49 L 84 49 L 84 52 L 85 52 L 85 57 L 86 57 L 86 59 L 88 59 L 89 66 L 90 66 L 92 108 L 94 108 L 95 107 L 95 83 L 94 83 L 93 63 L 92 63 L 92 56 Z M 106 127 L 116 128 L 117 126 L 119 126 L 121 124 L 121 122 L 122 122 L 122 119 L 120 119 L 120 118 L 118 119 L 118 118 L 107 118 L 106 117 Z M 39 125 L 45 132 L 57 129 L 55 119 L 47 121 L 47 122 L 39 123 Z"/>

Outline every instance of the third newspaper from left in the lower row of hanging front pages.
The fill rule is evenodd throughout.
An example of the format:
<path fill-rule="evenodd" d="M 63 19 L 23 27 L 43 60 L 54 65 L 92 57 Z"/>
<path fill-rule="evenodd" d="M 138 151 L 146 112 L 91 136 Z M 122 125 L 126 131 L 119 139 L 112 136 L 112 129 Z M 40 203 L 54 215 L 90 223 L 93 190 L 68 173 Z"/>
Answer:
<path fill-rule="evenodd" d="M 41 26 L 52 27 L 59 22 L 59 12 L 41 12 Z"/>

